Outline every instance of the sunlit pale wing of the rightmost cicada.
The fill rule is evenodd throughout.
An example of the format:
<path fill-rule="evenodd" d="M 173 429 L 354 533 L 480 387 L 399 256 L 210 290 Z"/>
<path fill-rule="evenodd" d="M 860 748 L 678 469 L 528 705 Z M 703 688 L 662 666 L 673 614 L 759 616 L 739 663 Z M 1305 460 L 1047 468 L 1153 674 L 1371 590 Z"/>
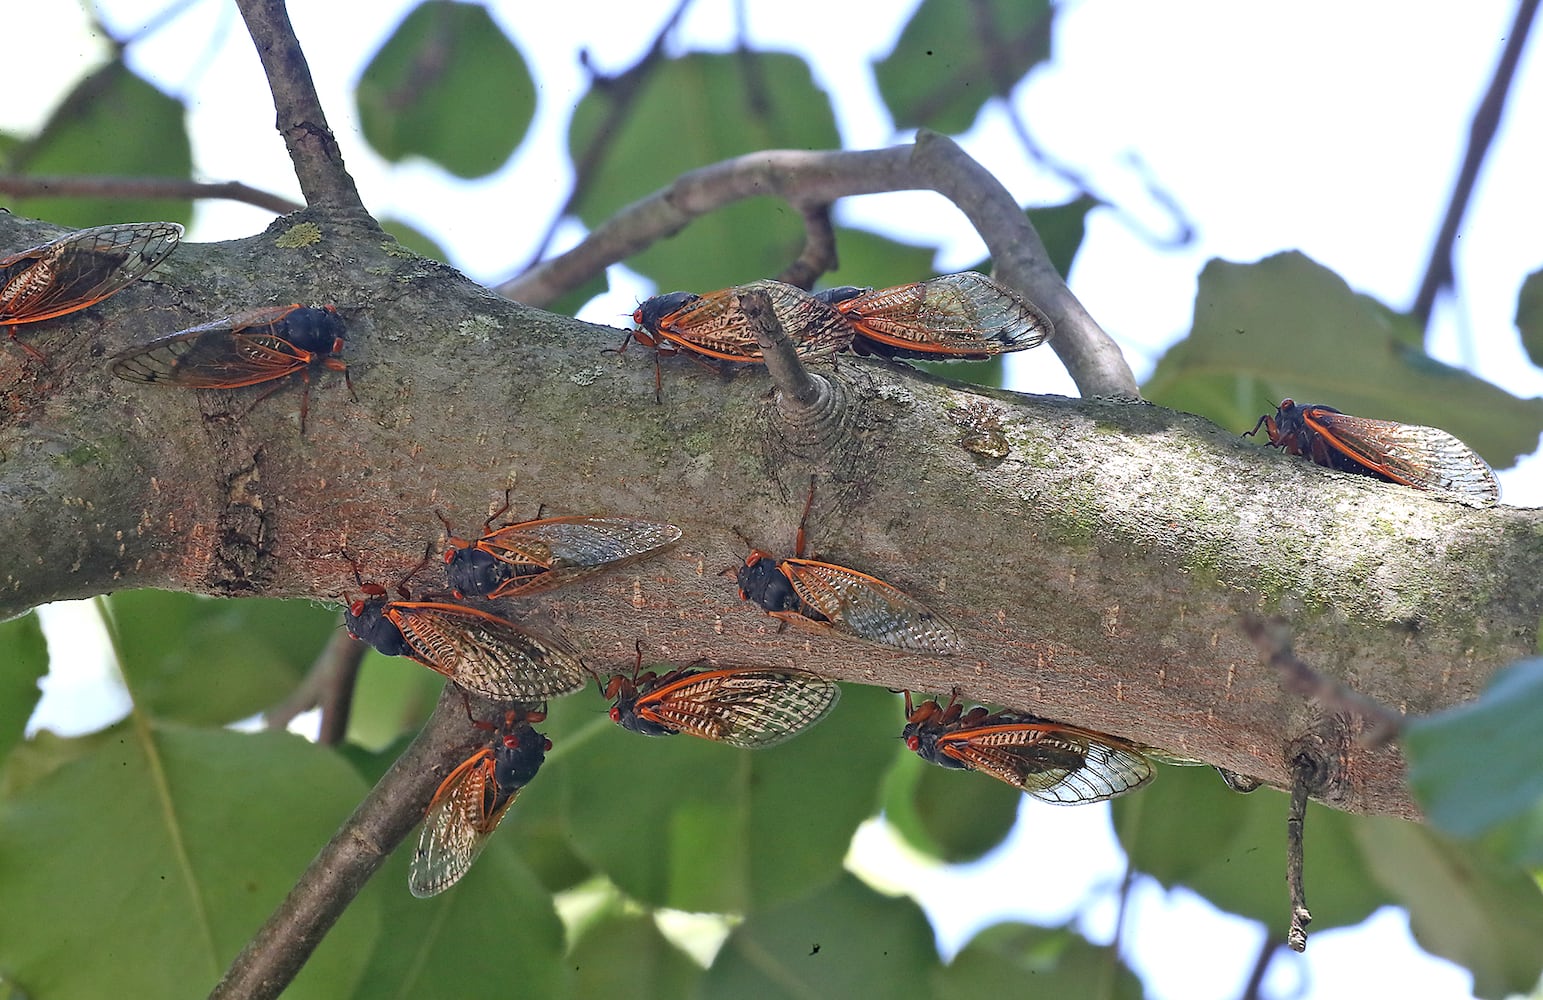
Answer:
<path fill-rule="evenodd" d="M 1324 410 L 1305 418 L 1356 461 L 1406 486 L 1450 492 L 1486 506 L 1500 498 L 1500 483 L 1489 465 L 1440 427 Z"/>

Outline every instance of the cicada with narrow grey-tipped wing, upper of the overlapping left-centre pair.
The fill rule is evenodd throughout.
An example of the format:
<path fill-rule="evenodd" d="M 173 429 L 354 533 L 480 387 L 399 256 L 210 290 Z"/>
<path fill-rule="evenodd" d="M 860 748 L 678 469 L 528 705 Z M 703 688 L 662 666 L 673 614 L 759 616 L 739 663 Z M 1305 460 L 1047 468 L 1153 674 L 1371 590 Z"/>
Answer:
<path fill-rule="evenodd" d="M 509 508 L 505 506 L 494 517 Z M 446 525 L 449 532 L 449 525 Z M 449 537 L 444 574 L 457 597 L 528 597 L 647 559 L 680 539 L 674 525 L 631 517 L 548 517 L 492 528 L 475 542 Z"/>

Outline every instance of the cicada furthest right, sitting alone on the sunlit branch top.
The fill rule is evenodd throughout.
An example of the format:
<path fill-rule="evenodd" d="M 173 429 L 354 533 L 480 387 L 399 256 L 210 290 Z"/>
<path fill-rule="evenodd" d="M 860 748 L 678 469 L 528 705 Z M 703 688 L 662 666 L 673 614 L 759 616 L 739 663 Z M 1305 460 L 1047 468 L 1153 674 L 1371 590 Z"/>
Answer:
<path fill-rule="evenodd" d="M 1282 400 L 1248 431 L 1270 446 L 1341 472 L 1450 494 L 1475 505 L 1500 498 L 1500 483 L 1478 454 L 1440 427 L 1341 414 L 1319 403 Z"/>

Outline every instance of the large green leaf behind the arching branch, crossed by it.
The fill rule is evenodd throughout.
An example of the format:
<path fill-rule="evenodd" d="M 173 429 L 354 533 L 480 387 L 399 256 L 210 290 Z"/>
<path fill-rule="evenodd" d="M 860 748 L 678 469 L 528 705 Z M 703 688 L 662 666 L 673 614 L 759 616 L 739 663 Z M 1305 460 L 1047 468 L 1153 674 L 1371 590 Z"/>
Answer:
<path fill-rule="evenodd" d="M 680 174 L 759 150 L 838 147 L 830 99 L 798 56 L 696 54 L 659 63 L 636 103 L 611 120 L 616 94 L 591 88 L 568 148 L 600 160 L 576 210 L 589 228 Z M 662 290 L 708 292 L 779 273 L 804 245 L 804 222 L 781 199 L 734 202 L 628 259 Z"/>

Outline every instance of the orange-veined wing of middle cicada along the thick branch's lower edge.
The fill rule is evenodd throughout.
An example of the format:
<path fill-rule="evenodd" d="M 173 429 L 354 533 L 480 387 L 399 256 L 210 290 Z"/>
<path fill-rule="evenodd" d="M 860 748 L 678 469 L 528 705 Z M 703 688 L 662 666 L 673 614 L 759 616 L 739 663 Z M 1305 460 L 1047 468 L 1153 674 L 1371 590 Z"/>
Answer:
<path fill-rule="evenodd" d="M 792 739 L 835 708 L 841 688 L 802 670 L 730 667 L 667 682 L 637 713 L 670 728 L 756 750 Z"/>

